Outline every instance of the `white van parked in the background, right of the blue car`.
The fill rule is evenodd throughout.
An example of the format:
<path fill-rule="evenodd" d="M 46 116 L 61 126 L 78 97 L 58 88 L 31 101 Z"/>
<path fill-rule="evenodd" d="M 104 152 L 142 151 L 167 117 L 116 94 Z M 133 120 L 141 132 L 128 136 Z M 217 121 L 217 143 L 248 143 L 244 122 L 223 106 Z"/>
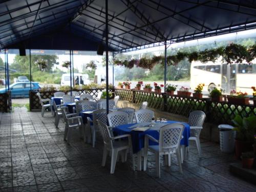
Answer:
<path fill-rule="evenodd" d="M 73 79 L 73 74 L 71 76 L 72 78 L 72 86 L 78 84 L 79 86 L 83 84 L 89 84 L 90 81 L 88 79 L 88 74 L 81 74 L 81 73 L 74 73 L 74 79 Z M 61 86 L 70 86 L 70 73 L 65 73 L 62 74 L 61 76 L 61 81 L 60 81 Z"/>

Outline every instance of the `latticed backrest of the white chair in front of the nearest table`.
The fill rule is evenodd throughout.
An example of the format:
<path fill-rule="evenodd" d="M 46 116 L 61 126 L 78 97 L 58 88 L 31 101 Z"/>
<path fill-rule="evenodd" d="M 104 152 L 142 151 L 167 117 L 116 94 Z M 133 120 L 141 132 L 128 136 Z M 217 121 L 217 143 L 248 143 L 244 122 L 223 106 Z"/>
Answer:
<path fill-rule="evenodd" d="M 159 133 L 159 151 L 170 152 L 179 149 L 184 130 L 181 123 L 172 123 L 162 126 Z"/>

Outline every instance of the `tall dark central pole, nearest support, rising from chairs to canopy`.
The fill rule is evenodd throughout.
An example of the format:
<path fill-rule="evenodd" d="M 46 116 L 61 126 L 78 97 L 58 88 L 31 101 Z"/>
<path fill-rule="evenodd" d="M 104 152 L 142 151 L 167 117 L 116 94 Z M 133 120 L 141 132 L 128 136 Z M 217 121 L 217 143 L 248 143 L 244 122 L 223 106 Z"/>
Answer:
<path fill-rule="evenodd" d="M 105 0 L 105 35 L 106 35 L 106 113 L 109 114 L 109 25 L 108 25 L 108 0 Z"/>

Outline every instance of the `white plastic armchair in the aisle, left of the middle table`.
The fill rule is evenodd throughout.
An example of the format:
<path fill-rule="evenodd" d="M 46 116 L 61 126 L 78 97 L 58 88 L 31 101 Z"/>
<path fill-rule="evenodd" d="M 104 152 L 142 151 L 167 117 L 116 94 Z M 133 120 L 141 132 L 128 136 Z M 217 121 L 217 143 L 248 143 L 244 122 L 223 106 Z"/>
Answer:
<path fill-rule="evenodd" d="M 78 127 L 80 134 L 83 135 L 82 117 L 77 116 L 76 113 L 67 114 L 68 108 L 66 106 L 62 106 L 61 110 L 65 122 L 64 140 L 67 139 L 67 142 L 70 143 L 73 129 Z"/>

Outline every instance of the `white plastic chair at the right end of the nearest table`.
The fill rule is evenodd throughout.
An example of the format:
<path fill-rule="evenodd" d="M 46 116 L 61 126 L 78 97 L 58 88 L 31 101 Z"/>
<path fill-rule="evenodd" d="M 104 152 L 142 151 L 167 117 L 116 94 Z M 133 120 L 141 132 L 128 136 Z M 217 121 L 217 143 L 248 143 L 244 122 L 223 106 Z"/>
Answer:
<path fill-rule="evenodd" d="M 190 125 L 190 137 L 188 140 L 194 140 L 197 144 L 198 154 L 201 157 L 202 150 L 200 144 L 200 132 L 203 129 L 203 123 L 206 115 L 202 111 L 193 111 L 189 114 L 188 124 Z"/>

